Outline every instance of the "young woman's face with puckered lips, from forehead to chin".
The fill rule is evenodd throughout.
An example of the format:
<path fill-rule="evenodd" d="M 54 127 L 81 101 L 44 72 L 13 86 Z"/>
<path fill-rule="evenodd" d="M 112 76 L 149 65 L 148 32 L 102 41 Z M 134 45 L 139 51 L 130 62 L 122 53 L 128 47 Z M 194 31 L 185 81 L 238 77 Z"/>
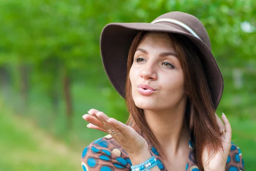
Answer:
<path fill-rule="evenodd" d="M 183 70 L 176 54 L 174 42 L 167 33 L 145 35 L 129 73 L 137 107 L 163 110 L 186 101 Z"/>

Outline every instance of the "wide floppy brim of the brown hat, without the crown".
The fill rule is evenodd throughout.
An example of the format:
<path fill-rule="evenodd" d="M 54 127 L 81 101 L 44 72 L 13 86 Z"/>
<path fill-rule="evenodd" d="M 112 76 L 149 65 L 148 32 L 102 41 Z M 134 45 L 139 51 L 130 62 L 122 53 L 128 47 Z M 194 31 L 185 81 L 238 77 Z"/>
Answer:
<path fill-rule="evenodd" d="M 160 23 L 110 23 L 102 30 L 100 38 L 102 63 L 111 84 L 123 98 L 125 98 L 128 51 L 139 31 L 176 33 L 188 37 L 195 43 L 203 54 L 199 58 L 207 77 L 213 104 L 217 109 L 224 82 L 211 50 L 195 36 Z"/>

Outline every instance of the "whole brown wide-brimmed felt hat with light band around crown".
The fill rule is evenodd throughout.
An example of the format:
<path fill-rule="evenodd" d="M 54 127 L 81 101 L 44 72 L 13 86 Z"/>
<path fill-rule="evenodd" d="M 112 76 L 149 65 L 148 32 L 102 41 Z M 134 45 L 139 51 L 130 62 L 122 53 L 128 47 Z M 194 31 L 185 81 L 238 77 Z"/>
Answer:
<path fill-rule="evenodd" d="M 200 61 L 204 68 L 212 101 L 217 109 L 223 93 L 223 77 L 211 52 L 209 35 L 198 18 L 184 12 L 160 15 L 151 23 L 110 23 L 100 38 L 100 50 L 105 72 L 117 92 L 125 98 L 128 51 L 140 31 L 167 32 L 184 35 L 201 51 Z"/>

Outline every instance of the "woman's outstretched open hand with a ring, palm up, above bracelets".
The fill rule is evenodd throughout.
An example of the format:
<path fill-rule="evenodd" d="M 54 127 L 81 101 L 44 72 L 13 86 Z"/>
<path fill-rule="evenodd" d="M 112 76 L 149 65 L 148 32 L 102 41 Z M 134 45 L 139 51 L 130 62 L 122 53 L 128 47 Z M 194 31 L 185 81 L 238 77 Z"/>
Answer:
<path fill-rule="evenodd" d="M 88 128 L 110 133 L 119 142 L 129 157 L 139 157 L 148 152 L 148 143 L 133 128 L 109 118 L 105 113 L 90 109 L 83 119 L 89 122 Z"/>

